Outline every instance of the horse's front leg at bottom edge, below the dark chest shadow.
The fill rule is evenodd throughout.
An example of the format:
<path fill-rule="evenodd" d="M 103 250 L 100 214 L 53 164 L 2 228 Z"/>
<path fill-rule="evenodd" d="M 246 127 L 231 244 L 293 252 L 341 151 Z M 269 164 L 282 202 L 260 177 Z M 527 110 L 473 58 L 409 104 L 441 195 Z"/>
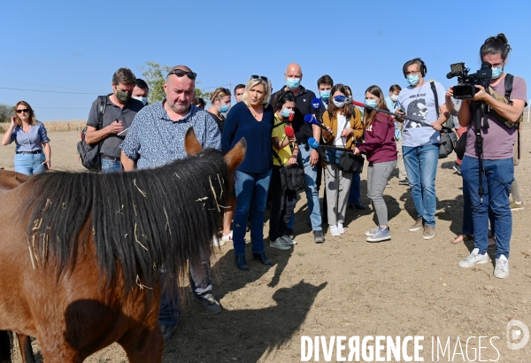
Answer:
<path fill-rule="evenodd" d="M 144 328 L 129 330 L 118 342 L 127 353 L 131 363 L 160 363 L 164 351 L 164 340 L 158 324 L 151 331 Z"/>

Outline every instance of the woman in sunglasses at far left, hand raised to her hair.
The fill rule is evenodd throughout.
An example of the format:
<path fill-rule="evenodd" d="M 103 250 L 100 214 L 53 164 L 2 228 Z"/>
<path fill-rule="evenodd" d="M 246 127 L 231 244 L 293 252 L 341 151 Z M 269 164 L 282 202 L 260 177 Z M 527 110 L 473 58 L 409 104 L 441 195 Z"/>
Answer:
<path fill-rule="evenodd" d="M 50 139 L 41 121 L 26 101 L 15 105 L 15 116 L 4 136 L 2 144 L 17 144 L 15 148 L 15 171 L 32 175 L 51 168 Z"/>

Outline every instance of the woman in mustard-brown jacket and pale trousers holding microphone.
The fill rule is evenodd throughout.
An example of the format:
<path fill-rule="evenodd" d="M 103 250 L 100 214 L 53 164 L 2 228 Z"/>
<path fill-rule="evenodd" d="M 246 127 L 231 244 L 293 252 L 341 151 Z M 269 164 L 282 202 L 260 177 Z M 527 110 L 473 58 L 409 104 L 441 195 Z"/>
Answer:
<path fill-rule="evenodd" d="M 354 142 L 363 134 L 361 115 L 357 109 L 347 103 L 348 90 L 341 83 L 332 88 L 330 95 L 328 109 L 323 114 L 323 123 L 332 130 L 332 134 L 323 130 L 323 138 L 327 144 L 352 149 Z M 327 150 L 327 167 L 324 171 L 328 224 L 332 236 L 341 236 L 345 233 L 343 223 L 352 181 L 352 173 L 339 169 L 341 153 L 342 151 Z"/>

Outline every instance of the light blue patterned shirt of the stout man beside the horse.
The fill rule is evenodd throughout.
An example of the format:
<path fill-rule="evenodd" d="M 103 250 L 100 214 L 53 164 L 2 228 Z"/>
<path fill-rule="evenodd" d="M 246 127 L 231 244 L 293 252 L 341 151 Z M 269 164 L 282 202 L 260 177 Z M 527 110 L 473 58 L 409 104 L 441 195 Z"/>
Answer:
<path fill-rule="evenodd" d="M 120 148 L 127 158 L 137 161 L 139 169 L 162 166 L 178 158 L 186 158 L 184 136 L 194 127 L 197 140 L 205 149 L 221 149 L 219 127 L 206 111 L 190 106 L 189 113 L 173 121 L 163 103 L 148 104 L 135 115 Z"/>

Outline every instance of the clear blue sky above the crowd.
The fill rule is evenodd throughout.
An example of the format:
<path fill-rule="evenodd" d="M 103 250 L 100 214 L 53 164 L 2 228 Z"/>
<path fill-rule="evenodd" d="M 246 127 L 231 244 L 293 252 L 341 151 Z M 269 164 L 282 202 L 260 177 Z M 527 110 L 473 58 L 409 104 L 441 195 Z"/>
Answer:
<path fill-rule="evenodd" d="M 127 66 L 142 78 L 146 61 L 187 65 L 206 90 L 250 74 L 279 89 L 296 62 L 306 88 L 316 91 L 328 73 L 362 99 L 372 84 L 406 86 L 402 65 L 416 57 L 427 79 L 450 87 L 450 64 L 477 70 L 482 42 L 504 33 L 513 49 L 505 70 L 531 82 L 528 0 L 6 0 L 0 13 L 0 103 L 26 100 L 42 121 L 86 120 L 97 95 L 111 92 L 114 71 Z"/>

